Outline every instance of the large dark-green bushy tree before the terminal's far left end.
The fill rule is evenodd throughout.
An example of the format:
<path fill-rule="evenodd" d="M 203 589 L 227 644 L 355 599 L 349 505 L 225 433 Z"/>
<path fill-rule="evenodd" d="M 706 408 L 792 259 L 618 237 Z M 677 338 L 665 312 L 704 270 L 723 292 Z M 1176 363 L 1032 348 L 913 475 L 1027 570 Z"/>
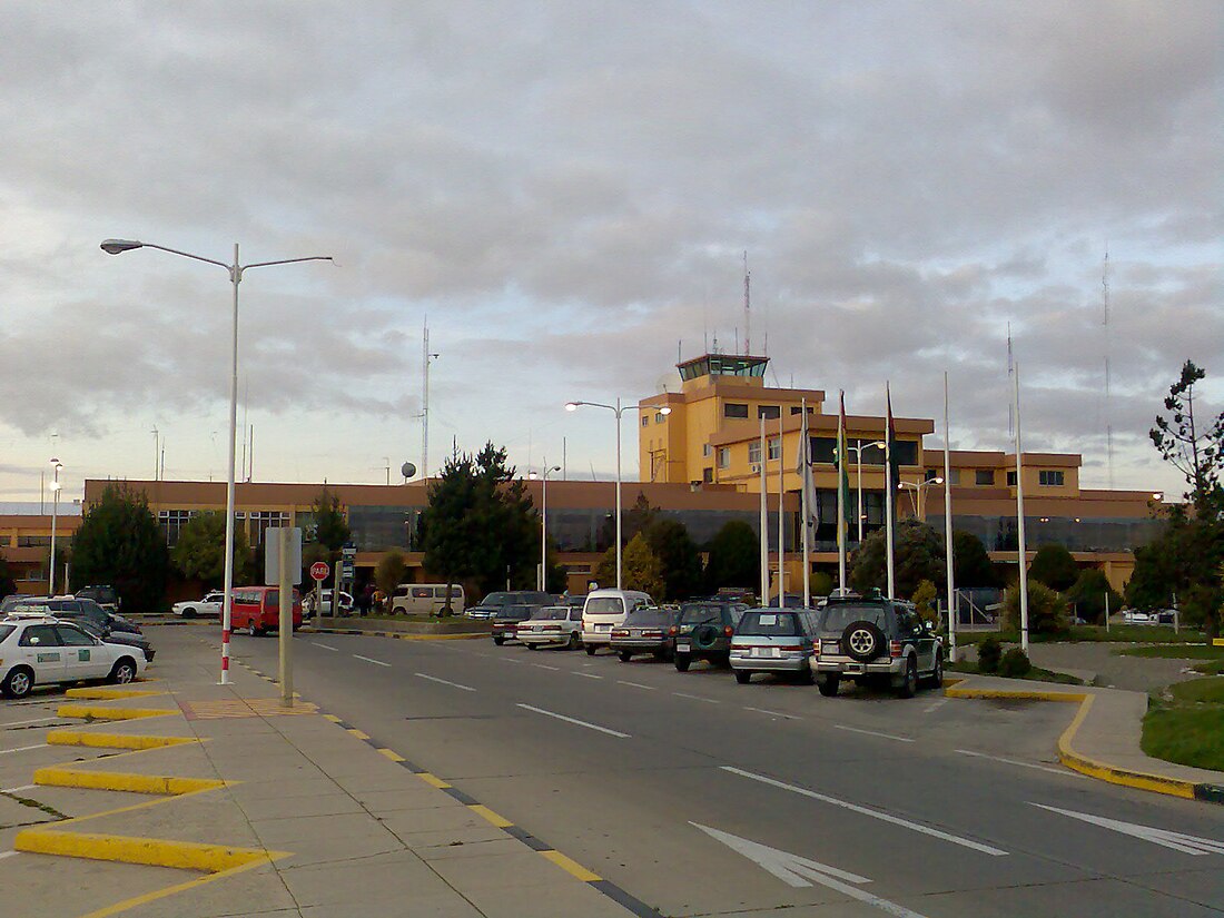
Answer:
<path fill-rule="evenodd" d="M 162 608 L 170 557 L 143 492 L 119 482 L 106 485 L 81 520 L 72 559 L 73 581 L 111 584 L 126 610 Z"/>

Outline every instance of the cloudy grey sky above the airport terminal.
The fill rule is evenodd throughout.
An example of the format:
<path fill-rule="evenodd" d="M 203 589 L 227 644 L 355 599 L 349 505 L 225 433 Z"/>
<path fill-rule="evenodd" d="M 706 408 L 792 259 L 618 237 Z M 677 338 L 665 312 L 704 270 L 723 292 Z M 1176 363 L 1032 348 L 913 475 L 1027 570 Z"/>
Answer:
<path fill-rule="evenodd" d="M 613 469 L 677 353 L 941 414 L 1104 486 L 1191 357 L 1224 404 L 1218 2 L 9 0 L 0 34 L 0 499 L 223 480 L 230 286 L 253 475 L 384 480 L 453 442 Z M 1110 323 L 1103 326 L 1109 252 Z M 1113 399 L 1103 397 L 1106 338 Z M 564 447 L 563 447 L 564 443 Z M 635 431 L 625 425 L 625 443 Z M 939 446 L 931 438 L 930 446 Z M 635 457 L 635 449 L 628 449 Z M 627 476 L 635 474 L 633 468 Z"/>

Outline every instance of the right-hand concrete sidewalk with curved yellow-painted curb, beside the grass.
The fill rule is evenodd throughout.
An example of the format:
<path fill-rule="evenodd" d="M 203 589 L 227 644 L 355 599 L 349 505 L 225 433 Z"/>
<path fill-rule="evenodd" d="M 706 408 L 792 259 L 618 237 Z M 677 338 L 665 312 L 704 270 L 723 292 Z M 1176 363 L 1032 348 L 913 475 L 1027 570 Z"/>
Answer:
<path fill-rule="evenodd" d="M 1059 759 L 1070 769 L 1110 783 L 1224 803 L 1224 772 L 1153 759 L 1140 739 L 1147 695 L 1142 692 L 1061 685 L 995 676 L 947 681 L 949 698 L 1026 698 L 1076 704 L 1071 726 L 1059 738 Z"/>

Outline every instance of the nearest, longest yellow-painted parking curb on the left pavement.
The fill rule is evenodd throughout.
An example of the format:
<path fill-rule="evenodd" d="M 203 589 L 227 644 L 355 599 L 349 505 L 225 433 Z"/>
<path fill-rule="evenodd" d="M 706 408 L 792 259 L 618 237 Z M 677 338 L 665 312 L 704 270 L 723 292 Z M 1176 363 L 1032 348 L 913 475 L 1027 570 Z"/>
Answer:
<path fill-rule="evenodd" d="M 261 848 L 231 848 L 224 845 L 138 838 L 122 835 L 92 832 L 56 832 L 50 829 L 26 829 L 12 845 L 16 851 L 32 854 L 118 860 L 124 864 L 170 867 L 180 870 L 222 873 L 245 867 L 253 860 L 266 862 L 286 857 L 288 852 Z"/>

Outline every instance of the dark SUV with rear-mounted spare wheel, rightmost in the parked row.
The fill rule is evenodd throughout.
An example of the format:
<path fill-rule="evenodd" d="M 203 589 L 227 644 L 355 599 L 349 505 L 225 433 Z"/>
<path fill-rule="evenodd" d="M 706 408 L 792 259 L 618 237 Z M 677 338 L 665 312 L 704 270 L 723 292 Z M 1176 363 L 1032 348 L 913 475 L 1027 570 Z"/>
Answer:
<path fill-rule="evenodd" d="M 842 677 L 887 681 L 901 698 L 944 684 L 944 644 L 909 602 L 830 597 L 812 649 L 821 695 L 836 695 Z"/>

